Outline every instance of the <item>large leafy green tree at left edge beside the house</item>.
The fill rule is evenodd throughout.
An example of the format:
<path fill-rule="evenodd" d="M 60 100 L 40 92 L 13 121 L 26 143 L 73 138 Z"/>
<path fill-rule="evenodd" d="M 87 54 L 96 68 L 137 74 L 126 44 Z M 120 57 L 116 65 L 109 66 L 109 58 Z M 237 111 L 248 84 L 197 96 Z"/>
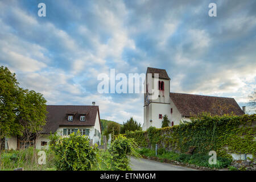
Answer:
<path fill-rule="evenodd" d="M 42 94 L 20 88 L 15 73 L 0 67 L 0 146 L 3 137 L 23 135 L 25 129 L 31 133 L 42 129 L 46 113 Z"/>

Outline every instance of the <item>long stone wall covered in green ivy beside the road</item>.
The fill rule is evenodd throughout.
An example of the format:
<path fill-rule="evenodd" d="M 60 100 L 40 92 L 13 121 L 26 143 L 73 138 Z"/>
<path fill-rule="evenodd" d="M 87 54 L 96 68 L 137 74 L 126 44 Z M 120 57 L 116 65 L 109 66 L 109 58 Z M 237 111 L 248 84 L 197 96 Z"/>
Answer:
<path fill-rule="evenodd" d="M 229 153 L 253 154 L 255 158 L 256 114 L 210 116 L 201 114 L 191 122 L 180 123 L 173 127 L 147 131 L 127 132 L 127 138 L 135 138 L 141 147 L 155 147 L 177 152 L 187 152 L 194 146 L 196 153 L 208 154 L 214 150 L 218 156 L 231 158 Z"/>

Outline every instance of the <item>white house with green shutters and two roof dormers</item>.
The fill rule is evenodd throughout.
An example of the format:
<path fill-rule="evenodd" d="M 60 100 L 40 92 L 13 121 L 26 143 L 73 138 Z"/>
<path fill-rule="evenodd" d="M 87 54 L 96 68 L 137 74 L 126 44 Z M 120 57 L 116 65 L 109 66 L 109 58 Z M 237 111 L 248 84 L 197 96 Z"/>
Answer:
<path fill-rule="evenodd" d="M 40 135 L 31 135 L 30 140 L 24 141 L 22 137 L 15 136 L 5 138 L 5 149 L 19 149 L 22 146 L 36 145 L 41 149 L 49 144 L 49 134 L 55 133 L 60 136 L 68 136 L 78 130 L 82 135 L 89 137 L 93 144 L 101 143 L 101 125 L 99 107 L 93 102 L 89 105 L 47 105 L 46 125 Z"/>

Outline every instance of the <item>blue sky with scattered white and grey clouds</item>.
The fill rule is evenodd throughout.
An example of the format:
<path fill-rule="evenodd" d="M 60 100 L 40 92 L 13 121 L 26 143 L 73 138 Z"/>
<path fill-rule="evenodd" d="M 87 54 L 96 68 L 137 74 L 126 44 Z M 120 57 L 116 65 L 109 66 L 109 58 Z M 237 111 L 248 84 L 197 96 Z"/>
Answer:
<path fill-rule="evenodd" d="M 243 106 L 256 88 L 256 1 L 0 0 L 0 65 L 48 105 L 94 101 L 102 119 L 119 123 L 143 123 L 143 94 L 98 93 L 97 76 L 110 69 L 166 69 L 171 92 Z"/>

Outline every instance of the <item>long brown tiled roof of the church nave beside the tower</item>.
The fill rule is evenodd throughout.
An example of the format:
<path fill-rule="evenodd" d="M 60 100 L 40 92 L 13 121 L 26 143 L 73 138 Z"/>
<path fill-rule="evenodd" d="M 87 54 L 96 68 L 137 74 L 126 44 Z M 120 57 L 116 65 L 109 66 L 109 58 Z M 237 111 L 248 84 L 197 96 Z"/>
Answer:
<path fill-rule="evenodd" d="M 232 112 L 234 115 L 245 114 L 234 98 L 185 93 L 170 93 L 170 97 L 177 110 L 185 117 L 202 112 L 208 112 L 212 115 L 230 114 Z"/>

